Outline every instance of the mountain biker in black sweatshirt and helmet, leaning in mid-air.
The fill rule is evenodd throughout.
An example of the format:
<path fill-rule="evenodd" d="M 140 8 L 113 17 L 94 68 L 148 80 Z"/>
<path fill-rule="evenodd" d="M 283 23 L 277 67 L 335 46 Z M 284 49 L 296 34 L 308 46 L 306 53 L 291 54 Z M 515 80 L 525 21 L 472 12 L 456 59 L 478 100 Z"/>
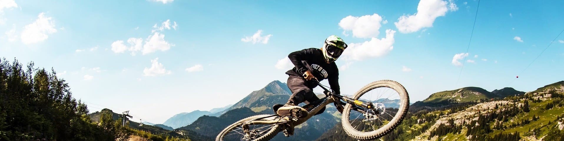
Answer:
<path fill-rule="evenodd" d="M 285 116 L 290 115 L 292 113 L 290 111 L 301 111 L 300 117 L 307 116 L 307 110 L 299 107 L 298 104 L 319 100 L 312 89 L 317 87 L 319 81 L 324 79 L 329 80 L 329 86 L 335 94 L 340 94 L 339 70 L 334 61 L 341 56 L 345 48 L 347 48 L 347 44 L 341 38 L 331 35 L 325 39 L 321 49 L 307 48 L 290 53 L 288 58 L 295 67 L 288 70 L 286 74 L 289 75 L 287 83 L 292 95 L 284 106 L 278 108 L 276 113 Z M 342 112 L 342 107 L 337 106 L 337 109 Z M 321 110 L 321 112 L 323 111 Z"/>

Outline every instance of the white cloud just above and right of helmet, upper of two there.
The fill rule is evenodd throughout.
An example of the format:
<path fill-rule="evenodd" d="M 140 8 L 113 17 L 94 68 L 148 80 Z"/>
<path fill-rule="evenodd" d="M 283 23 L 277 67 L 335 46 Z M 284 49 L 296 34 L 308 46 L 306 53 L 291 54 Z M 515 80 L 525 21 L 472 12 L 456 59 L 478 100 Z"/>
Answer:
<path fill-rule="evenodd" d="M 382 17 L 377 13 L 360 17 L 347 16 L 339 22 L 339 26 L 345 31 L 352 31 L 352 37 L 373 38 L 380 34 L 380 22 Z"/>

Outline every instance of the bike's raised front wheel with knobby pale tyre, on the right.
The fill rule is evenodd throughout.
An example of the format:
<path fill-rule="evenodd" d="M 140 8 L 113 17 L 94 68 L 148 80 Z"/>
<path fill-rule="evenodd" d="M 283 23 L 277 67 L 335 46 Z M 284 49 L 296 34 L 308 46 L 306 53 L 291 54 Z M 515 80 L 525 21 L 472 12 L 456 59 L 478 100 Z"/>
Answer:
<path fill-rule="evenodd" d="M 406 88 L 391 80 L 374 81 L 356 92 L 352 99 L 374 104 L 368 109 L 347 103 L 343 110 L 343 129 L 359 140 L 383 137 L 402 122 L 409 108 Z"/>

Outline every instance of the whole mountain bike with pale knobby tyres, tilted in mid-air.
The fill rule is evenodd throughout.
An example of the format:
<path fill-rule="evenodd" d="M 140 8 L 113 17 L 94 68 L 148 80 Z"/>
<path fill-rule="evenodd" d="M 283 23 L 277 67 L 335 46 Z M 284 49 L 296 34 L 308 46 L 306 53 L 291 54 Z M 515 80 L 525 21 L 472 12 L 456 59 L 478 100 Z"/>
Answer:
<path fill-rule="evenodd" d="M 294 126 L 307 121 L 330 103 L 344 107 L 341 124 L 347 135 L 358 140 L 378 139 L 402 122 L 409 107 L 407 90 L 396 81 L 374 81 L 352 97 L 335 94 L 326 86 L 318 85 L 324 89 L 325 97 L 302 106 L 308 111 L 307 116 L 250 116 L 227 126 L 215 140 L 270 140 L 280 131 L 289 137 L 293 135 Z"/>

